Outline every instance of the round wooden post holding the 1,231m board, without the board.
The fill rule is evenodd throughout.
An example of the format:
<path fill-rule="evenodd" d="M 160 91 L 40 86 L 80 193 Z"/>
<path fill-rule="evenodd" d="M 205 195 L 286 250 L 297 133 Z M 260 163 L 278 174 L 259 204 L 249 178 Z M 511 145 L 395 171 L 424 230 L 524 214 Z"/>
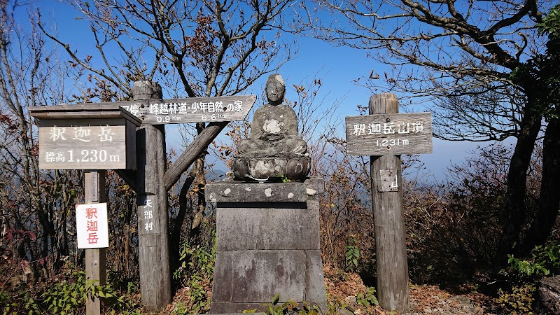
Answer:
<path fill-rule="evenodd" d="M 395 94 L 372 95 L 370 115 L 376 113 L 398 113 Z M 384 309 L 402 313 L 410 302 L 400 155 L 370 159 L 378 300 Z"/>

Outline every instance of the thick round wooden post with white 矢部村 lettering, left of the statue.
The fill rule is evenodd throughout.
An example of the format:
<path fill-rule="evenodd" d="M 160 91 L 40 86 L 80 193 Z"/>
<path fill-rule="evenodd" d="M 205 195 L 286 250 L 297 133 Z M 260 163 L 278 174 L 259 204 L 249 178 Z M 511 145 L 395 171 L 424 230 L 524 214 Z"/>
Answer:
<path fill-rule="evenodd" d="M 158 83 L 134 82 L 132 93 L 134 101 L 146 106 L 162 102 Z M 141 303 L 148 311 L 160 311 L 171 302 L 166 165 L 165 125 L 142 125 L 137 130 L 138 257 Z"/>

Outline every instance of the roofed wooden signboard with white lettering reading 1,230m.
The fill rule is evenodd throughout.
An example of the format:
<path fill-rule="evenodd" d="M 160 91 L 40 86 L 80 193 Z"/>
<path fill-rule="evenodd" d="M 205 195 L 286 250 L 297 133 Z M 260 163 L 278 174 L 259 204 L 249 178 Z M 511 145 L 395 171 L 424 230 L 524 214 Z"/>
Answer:
<path fill-rule="evenodd" d="M 40 169 L 134 169 L 140 120 L 115 104 L 41 106 Z"/>

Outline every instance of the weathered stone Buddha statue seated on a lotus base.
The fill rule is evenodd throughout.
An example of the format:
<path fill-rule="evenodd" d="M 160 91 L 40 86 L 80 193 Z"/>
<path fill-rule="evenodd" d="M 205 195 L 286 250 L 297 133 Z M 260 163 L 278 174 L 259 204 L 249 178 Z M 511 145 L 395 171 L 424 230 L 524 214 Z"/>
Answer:
<path fill-rule="evenodd" d="M 236 179 L 304 179 L 309 174 L 307 143 L 300 137 L 295 111 L 283 99 L 286 84 L 274 73 L 266 84 L 268 104 L 255 111 L 251 134 L 237 146 Z"/>

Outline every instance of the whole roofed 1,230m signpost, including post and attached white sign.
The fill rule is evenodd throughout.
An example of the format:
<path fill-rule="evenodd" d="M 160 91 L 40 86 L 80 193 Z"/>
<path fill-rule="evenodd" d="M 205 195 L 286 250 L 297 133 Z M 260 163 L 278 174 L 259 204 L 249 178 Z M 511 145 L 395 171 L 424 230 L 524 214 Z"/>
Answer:
<path fill-rule="evenodd" d="M 78 248 L 86 248 L 87 283 L 103 286 L 109 241 L 104 229 L 106 211 L 102 218 L 97 210 L 106 202 L 105 169 L 136 167 L 135 138 L 140 120 L 114 104 L 41 106 L 29 111 L 38 118 L 39 168 L 86 170 L 85 205 L 76 207 Z M 83 216 L 81 211 L 86 211 Z M 86 311 L 101 314 L 98 295 L 87 296 Z"/>

